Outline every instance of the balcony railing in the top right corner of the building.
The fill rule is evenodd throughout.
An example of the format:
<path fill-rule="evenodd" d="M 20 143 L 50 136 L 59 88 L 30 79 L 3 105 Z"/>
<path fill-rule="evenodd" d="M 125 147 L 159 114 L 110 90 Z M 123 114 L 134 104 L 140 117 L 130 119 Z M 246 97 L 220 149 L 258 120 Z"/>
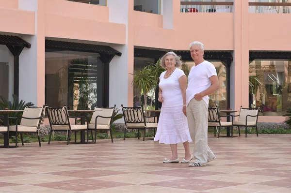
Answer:
<path fill-rule="evenodd" d="M 249 13 L 257 13 L 257 14 L 291 14 L 291 3 L 249 2 Z"/>

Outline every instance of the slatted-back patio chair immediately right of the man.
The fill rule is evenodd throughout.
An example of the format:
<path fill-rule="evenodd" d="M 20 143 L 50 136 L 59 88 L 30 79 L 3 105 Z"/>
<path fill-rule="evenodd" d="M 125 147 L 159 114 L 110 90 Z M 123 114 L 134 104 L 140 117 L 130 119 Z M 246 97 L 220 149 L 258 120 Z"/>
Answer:
<path fill-rule="evenodd" d="M 221 122 L 220 121 L 221 117 L 230 117 L 230 115 L 221 116 L 219 115 L 219 111 L 217 107 L 208 108 L 208 127 L 214 127 L 214 137 L 216 137 L 216 130 L 217 130 L 217 127 L 219 127 L 217 138 L 219 138 L 221 127 L 231 127 L 231 136 L 232 136 L 233 135 L 233 126 L 232 126 L 233 120 L 231 120 L 231 122 Z"/>

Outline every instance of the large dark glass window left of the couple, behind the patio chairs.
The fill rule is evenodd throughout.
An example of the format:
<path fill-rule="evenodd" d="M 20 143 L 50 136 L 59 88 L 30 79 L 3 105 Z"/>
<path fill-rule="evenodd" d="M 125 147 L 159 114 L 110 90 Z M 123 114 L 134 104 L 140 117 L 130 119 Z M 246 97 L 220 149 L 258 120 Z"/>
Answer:
<path fill-rule="evenodd" d="M 104 63 L 99 54 L 46 52 L 46 104 L 68 109 L 103 106 Z"/>

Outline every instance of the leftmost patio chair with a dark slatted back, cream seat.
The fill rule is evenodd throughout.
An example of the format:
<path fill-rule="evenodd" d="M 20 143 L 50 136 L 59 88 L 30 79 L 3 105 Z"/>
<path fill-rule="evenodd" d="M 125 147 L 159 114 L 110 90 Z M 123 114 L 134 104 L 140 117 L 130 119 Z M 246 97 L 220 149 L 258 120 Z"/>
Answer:
<path fill-rule="evenodd" d="M 64 107 L 46 107 L 46 111 L 49 118 L 49 125 L 50 125 L 50 133 L 49 133 L 49 144 L 51 139 L 51 134 L 54 133 L 54 131 L 58 132 L 67 132 L 67 145 L 70 143 L 70 136 L 72 131 L 87 131 L 87 144 L 88 144 L 88 121 L 85 125 L 71 125 L 70 118 L 79 119 L 79 118 L 85 118 L 86 116 L 80 116 L 80 117 L 72 117 L 69 116 L 67 107 L 64 105 Z M 76 122 L 76 121 L 75 121 Z"/>

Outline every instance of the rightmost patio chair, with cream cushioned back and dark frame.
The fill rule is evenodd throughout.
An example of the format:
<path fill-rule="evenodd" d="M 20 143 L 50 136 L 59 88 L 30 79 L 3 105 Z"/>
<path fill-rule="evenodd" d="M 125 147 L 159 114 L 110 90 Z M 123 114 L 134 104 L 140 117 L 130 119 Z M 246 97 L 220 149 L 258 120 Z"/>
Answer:
<path fill-rule="evenodd" d="M 257 109 L 242 108 L 240 115 L 231 115 L 232 117 L 239 117 L 238 121 L 233 121 L 233 126 L 237 126 L 239 129 L 239 135 L 241 136 L 240 127 L 245 127 L 245 137 L 247 134 L 247 127 L 256 127 L 257 136 L 258 134 L 258 118 L 259 118 L 259 107 Z"/>

